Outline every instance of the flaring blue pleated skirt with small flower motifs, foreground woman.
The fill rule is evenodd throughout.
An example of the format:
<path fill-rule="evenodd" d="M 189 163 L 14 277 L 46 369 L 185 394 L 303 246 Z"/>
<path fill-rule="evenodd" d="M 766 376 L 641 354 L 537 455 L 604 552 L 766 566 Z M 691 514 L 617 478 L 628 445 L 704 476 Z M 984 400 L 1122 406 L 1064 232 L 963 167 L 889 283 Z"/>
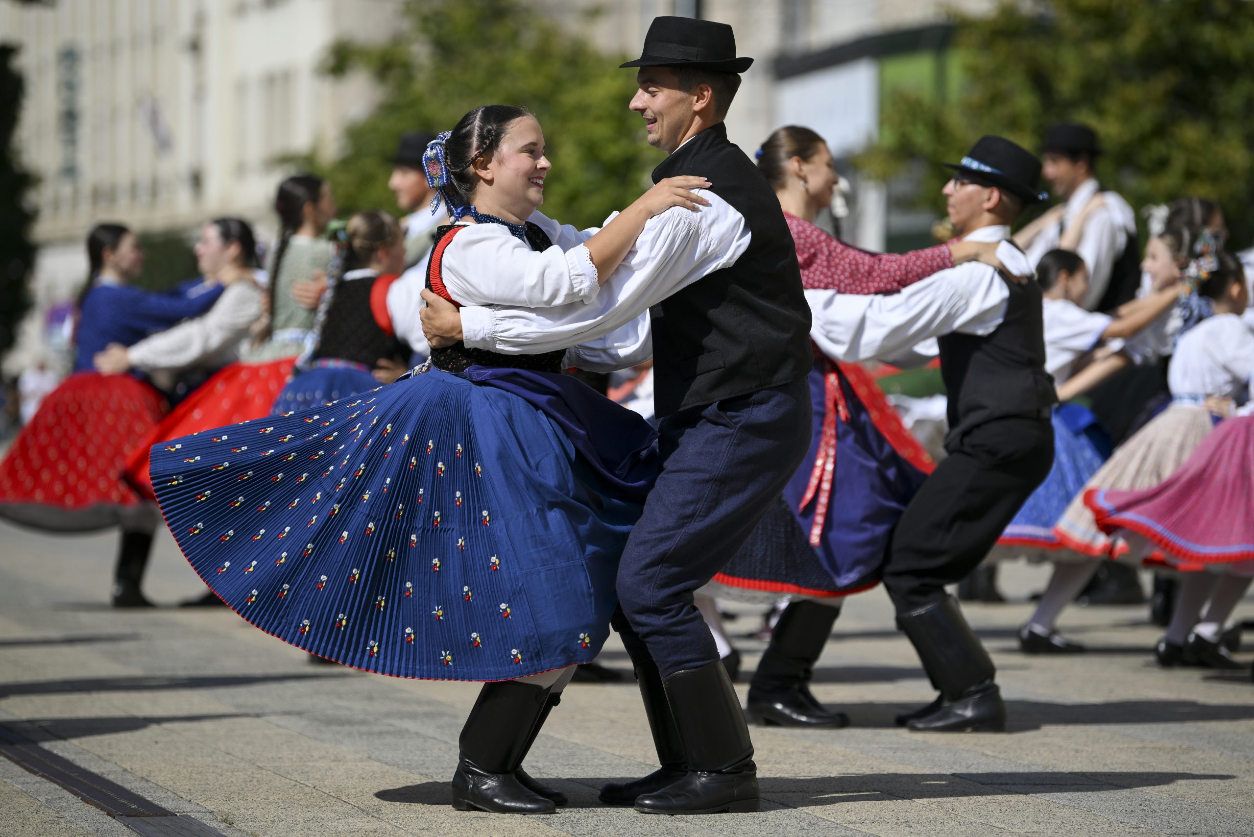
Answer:
<path fill-rule="evenodd" d="M 591 661 L 651 476 L 623 491 L 577 424 L 616 410 L 598 424 L 638 443 L 627 469 L 647 468 L 652 430 L 561 375 L 522 374 L 558 379 L 537 402 L 485 375 L 433 370 L 158 444 L 166 521 L 236 612 L 345 665 L 503 680 Z M 561 398 L 576 413 L 539 405 Z"/>

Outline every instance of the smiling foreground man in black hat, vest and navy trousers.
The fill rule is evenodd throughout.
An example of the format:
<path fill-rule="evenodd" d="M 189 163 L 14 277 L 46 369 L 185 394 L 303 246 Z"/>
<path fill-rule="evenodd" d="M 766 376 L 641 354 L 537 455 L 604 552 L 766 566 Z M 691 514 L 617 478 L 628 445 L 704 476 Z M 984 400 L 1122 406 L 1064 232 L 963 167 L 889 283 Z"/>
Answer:
<path fill-rule="evenodd" d="M 436 346 L 569 349 L 568 365 L 599 371 L 652 350 L 663 464 L 619 565 L 613 626 L 662 767 L 601 792 L 647 813 L 759 807 L 749 728 L 692 594 L 740 548 L 810 440 L 810 315 L 796 250 L 774 192 L 724 125 L 751 63 L 726 24 L 657 18 L 641 58 L 623 64 L 640 68 L 630 107 L 668 154 L 653 181 L 701 174 L 712 186 L 710 206 L 651 220 L 594 300 L 466 306 L 458 317 L 425 295 Z"/>

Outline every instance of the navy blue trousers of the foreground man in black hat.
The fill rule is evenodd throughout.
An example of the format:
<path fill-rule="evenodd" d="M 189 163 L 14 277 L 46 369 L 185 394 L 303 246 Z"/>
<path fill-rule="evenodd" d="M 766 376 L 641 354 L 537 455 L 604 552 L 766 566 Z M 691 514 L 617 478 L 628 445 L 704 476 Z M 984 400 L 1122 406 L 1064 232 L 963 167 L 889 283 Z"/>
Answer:
<path fill-rule="evenodd" d="M 662 473 L 618 566 L 613 626 L 663 678 L 719 659 L 692 594 L 722 570 L 810 445 L 805 378 L 667 415 Z"/>

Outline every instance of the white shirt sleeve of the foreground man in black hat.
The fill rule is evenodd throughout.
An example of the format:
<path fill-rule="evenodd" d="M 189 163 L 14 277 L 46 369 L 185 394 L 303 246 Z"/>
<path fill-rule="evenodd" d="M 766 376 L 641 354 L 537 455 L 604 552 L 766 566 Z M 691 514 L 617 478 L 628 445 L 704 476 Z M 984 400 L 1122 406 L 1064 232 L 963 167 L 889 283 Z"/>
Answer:
<path fill-rule="evenodd" d="M 613 333 L 671 294 L 735 264 L 751 238 L 744 216 L 717 195 L 697 191 L 710 206 L 671 207 L 650 218 L 592 302 L 549 309 L 463 307 L 465 344 L 505 354 L 569 349 Z"/>

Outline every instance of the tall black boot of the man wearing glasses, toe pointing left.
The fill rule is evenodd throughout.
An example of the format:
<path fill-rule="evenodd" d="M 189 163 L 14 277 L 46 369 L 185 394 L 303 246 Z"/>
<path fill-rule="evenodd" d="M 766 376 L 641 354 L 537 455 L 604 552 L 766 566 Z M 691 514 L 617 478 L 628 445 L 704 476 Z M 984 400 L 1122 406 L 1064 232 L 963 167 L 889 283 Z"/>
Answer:
<path fill-rule="evenodd" d="M 947 596 L 897 617 L 919 653 L 928 676 L 940 689 L 940 705 L 905 725 L 914 732 L 1004 732 L 1006 704 L 993 683 L 997 669 Z"/>

